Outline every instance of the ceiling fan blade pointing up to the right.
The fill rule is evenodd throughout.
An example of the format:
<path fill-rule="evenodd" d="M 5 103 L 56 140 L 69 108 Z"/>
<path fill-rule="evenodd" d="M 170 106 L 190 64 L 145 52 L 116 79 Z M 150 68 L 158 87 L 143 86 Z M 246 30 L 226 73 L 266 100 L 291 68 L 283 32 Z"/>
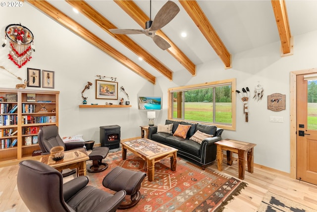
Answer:
<path fill-rule="evenodd" d="M 179 12 L 179 7 L 173 1 L 167 1 L 162 8 L 160 8 L 158 14 L 155 16 L 152 26 L 152 30 L 159 30 L 166 24 L 168 24 Z"/>

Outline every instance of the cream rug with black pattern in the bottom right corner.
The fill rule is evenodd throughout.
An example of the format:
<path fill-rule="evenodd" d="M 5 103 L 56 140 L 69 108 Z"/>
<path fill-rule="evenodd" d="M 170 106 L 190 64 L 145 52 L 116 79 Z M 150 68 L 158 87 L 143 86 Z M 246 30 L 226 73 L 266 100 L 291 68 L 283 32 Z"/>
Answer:
<path fill-rule="evenodd" d="M 266 192 L 258 212 L 317 212 L 272 192 Z"/>

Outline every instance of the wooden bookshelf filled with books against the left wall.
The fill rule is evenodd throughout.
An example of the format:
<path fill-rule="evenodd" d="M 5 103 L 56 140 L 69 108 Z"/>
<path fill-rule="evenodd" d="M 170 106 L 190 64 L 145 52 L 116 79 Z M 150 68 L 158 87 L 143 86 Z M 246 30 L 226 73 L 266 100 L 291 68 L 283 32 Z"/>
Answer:
<path fill-rule="evenodd" d="M 40 150 L 40 128 L 58 126 L 58 98 L 59 91 L 0 88 L 0 165 L 29 159 Z"/>

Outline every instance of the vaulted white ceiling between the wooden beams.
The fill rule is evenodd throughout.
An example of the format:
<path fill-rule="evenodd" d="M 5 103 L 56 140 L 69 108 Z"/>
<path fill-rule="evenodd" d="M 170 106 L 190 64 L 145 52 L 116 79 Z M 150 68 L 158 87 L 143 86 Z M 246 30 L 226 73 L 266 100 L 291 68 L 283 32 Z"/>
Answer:
<path fill-rule="evenodd" d="M 223 59 L 221 55 L 217 55 L 216 49 L 200 30 L 200 27 L 206 27 L 208 24 L 204 23 L 198 27 L 190 17 L 189 13 L 185 10 L 185 6 L 182 5 L 185 1 L 173 1 L 180 8 L 180 12 L 171 22 L 161 29 L 161 31 L 178 48 L 179 52 L 173 52 L 173 49 L 163 51 L 155 45 L 150 37 L 143 34 L 128 35 L 132 41 L 148 53 L 145 56 L 146 58 L 142 61 L 139 60 L 139 56 L 142 56 L 140 55 L 142 52 L 139 50 L 135 51 L 137 48 L 132 48 L 132 50 L 130 50 L 124 44 L 116 40 L 116 36 L 109 34 L 107 30 L 103 29 L 103 27 L 105 27 L 103 26 L 105 21 L 104 19 L 101 19 L 102 16 L 119 29 L 145 28 L 144 25 L 141 27 L 130 15 L 128 15 L 118 5 L 118 2 L 113 0 L 88 0 L 83 2 L 87 4 L 90 9 L 96 10 L 98 15 L 101 15 L 96 18 L 96 11 L 92 13 L 91 10 L 88 11 L 87 7 L 85 7 L 87 13 L 95 17 L 96 20 L 99 20 L 99 23 L 97 24 L 96 21 L 89 18 L 87 14 L 83 14 L 85 12 L 81 11 L 80 8 L 79 13 L 73 11 L 72 5 L 74 5 L 74 3 L 78 5 L 81 2 L 78 0 L 73 1 L 73 3 L 64 0 L 40 1 L 44 2 L 44 4 L 52 4 L 52 6 L 57 9 L 56 11 L 60 10 L 57 13 L 55 8 L 52 9 L 52 7 L 50 7 L 45 9 L 43 5 L 39 6 L 32 0 L 28 0 L 28 2 L 34 4 L 35 7 L 39 8 L 40 11 L 47 13 L 49 16 L 52 16 L 52 13 L 55 12 L 55 18 L 53 17 L 53 19 L 61 24 L 65 24 L 63 23 L 63 18 L 60 16 L 60 14 L 64 13 L 64 15 L 68 16 L 66 16 L 67 18 L 73 19 L 74 22 L 72 22 L 71 25 L 75 27 L 78 32 L 81 32 L 81 30 L 78 30 L 79 28 L 76 24 L 80 24 L 87 30 L 85 31 L 84 36 L 83 34 L 80 35 L 81 37 L 90 37 L 89 35 L 97 36 L 100 40 L 93 37 L 88 38 L 88 41 L 89 39 L 93 39 L 96 41 L 94 45 L 97 47 L 102 42 L 105 42 L 120 53 L 121 56 L 123 55 L 123 57 L 120 56 L 120 58 L 122 58 L 122 61 L 119 60 L 121 63 L 124 64 L 124 62 L 127 62 L 124 65 L 153 83 L 155 82 L 155 77 L 161 75 L 172 79 L 172 73 L 176 71 L 190 72 L 192 75 L 195 75 L 196 65 L 215 59 Z M 278 2 L 279 1 L 276 1 L 276 3 Z M 150 16 L 150 0 L 136 0 L 134 3 L 148 17 Z M 166 3 L 166 0 L 152 0 L 152 20 L 164 3 Z M 280 37 L 279 33 L 283 33 L 287 31 L 287 29 L 284 29 L 285 31 L 283 31 L 285 25 L 279 26 L 279 24 L 283 23 L 285 20 L 288 20 L 291 36 L 297 36 L 317 29 L 317 1 L 315 0 L 286 0 L 287 15 L 284 16 L 284 19 L 279 16 L 283 13 L 283 10 L 279 14 L 274 15 L 272 2 L 270 0 L 197 0 L 197 3 L 207 17 L 210 26 L 213 27 L 220 41 L 222 41 L 220 46 L 223 46 L 230 55 L 270 43 L 281 42 L 282 37 Z M 181 37 L 182 32 L 187 33 L 186 38 Z M 123 40 L 126 39 L 123 38 Z M 294 46 L 296 47 L 296 41 L 294 42 Z M 105 46 L 100 45 L 99 48 L 103 49 Z M 108 51 L 111 52 L 111 50 Z M 276 51 L 279 52 L 280 50 Z M 182 58 L 177 58 L 177 56 L 180 55 L 180 52 L 182 52 L 184 56 Z M 109 55 L 114 56 L 114 58 L 116 56 L 115 54 Z M 128 59 L 124 59 L 125 57 Z M 191 64 L 182 63 L 183 61 L 186 61 L 184 58 L 192 63 L 193 68 L 191 67 Z M 118 60 L 118 58 L 115 59 Z M 146 62 L 146 60 L 150 62 Z M 224 61 L 223 63 L 225 68 L 227 65 Z M 234 67 L 232 61 L 230 65 L 231 67 Z M 141 73 L 139 70 L 141 70 Z M 142 71 L 144 71 L 144 73 Z M 168 72 L 170 72 L 171 76 L 168 76 Z"/>

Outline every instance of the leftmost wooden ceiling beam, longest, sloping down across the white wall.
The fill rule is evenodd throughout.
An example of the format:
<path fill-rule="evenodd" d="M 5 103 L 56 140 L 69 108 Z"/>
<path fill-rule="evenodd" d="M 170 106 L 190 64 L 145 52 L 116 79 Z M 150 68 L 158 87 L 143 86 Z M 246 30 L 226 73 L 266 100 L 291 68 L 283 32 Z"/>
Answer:
<path fill-rule="evenodd" d="M 118 62 L 134 71 L 136 74 L 155 84 L 156 77 L 144 70 L 138 64 L 130 60 L 128 57 L 118 52 L 102 39 L 91 33 L 89 30 L 78 24 L 76 21 L 68 17 L 66 14 L 55 8 L 52 4 L 45 0 L 27 0 L 30 4 L 47 14 L 53 20 L 57 21 L 82 39 L 91 43 L 101 51 L 116 59 Z"/>

